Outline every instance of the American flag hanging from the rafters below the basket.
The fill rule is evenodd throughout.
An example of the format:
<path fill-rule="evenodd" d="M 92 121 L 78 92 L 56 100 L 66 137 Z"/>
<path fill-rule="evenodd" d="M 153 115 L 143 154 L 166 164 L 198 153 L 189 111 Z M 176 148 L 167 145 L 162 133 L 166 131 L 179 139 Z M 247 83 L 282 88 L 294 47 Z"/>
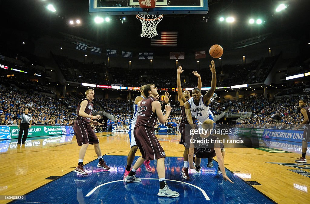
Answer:
<path fill-rule="evenodd" d="M 178 46 L 178 32 L 161 32 L 151 39 L 151 46 Z"/>

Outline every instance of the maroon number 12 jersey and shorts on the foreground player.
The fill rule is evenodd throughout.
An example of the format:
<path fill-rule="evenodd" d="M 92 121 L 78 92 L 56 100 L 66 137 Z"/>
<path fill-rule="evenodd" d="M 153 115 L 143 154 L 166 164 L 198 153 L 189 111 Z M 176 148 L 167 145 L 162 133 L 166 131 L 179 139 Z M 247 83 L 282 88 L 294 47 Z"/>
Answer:
<path fill-rule="evenodd" d="M 166 154 L 154 135 L 154 126 L 157 122 L 157 115 L 152 110 L 152 103 L 156 99 L 152 96 L 140 102 L 138 118 L 134 129 L 134 136 L 142 157 L 146 160 L 165 158 Z"/>

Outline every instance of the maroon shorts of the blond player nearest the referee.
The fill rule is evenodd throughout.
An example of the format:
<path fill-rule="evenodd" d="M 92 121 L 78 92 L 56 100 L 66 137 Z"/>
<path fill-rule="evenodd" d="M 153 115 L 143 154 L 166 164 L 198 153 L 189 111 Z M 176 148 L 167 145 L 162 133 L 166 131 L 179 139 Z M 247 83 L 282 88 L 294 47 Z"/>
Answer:
<path fill-rule="evenodd" d="M 83 144 L 99 144 L 99 140 L 91 124 L 82 120 L 76 120 L 73 125 L 73 131 L 78 142 L 78 146 Z"/>

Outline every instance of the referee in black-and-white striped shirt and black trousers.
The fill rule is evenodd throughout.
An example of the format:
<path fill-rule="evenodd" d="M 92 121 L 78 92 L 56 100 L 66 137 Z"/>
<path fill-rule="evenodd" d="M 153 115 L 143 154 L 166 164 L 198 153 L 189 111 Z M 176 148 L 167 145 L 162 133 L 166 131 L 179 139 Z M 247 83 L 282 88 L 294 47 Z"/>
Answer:
<path fill-rule="evenodd" d="M 28 112 L 29 110 L 26 108 L 25 113 L 21 114 L 20 119 L 18 120 L 18 129 L 20 129 L 20 131 L 18 135 L 17 144 L 20 144 L 21 136 L 23 135 L 23 133 L 24 133 L 24 136 L 23 136 L 22 144 L 25 144 L 25 141 L 27 139 L 28 129 L 29 127 L 31 127 L 31 123 L 32 123 L 31 115 Z"/>

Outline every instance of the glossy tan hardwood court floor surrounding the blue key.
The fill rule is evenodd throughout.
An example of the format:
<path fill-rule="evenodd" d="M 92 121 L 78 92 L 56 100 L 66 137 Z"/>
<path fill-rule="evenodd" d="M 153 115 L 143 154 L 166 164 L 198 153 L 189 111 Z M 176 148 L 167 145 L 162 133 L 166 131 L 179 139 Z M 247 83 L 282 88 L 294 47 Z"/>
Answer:
<path fill-rule="evenodd" d="M 117 173 L 118 179 L 122 180 L 122 174 L 126 167 L 126 157 L 120 157 L 124 158 L 122 162 L 118 161 L 118 159 L 114 159 L 113 161 L 111 158 L 113 155 L 127 156 L 130 149 L 128 134 L 104 132 L 97 133 L 97 135 L 99 136 L 101 151 L 105 155 L 104 159 L 107 161 L 107 164 L 112 167 L 111 170 L 113 169 L 114 162 L 119 165 L 117 168 L 114 168 L 113 172 Z M 181 157 L 183 157 L 184 146 L 179 144 L 179 135 L 157 135 L 157 137 L 166 152 L 166 157 L 176 158 L 176 162 L 179 162 L 178 165 L 180 165 L 173 166 L 173 162 L 166 163 L 167 171 L 173 172 L 172 170 L 175 170 L 175 180 L 182 181 L 181 177 L 178 177 L 178 174 L 180 174 L 179 167 L 183 165 L 183 159 Z M 26 141 L 26 145 L 17 145 L 16 140 L 1 141 L 1 143 L 6 143 L 6 146 L 2 145 L 2 152 L 0 152 L 0 165 L 2 166 L 2 171 L 0 173 L 0 195 L 26 195 L 26 200 L 15 200 L 13 202 L 32 203 L 33 197 L 30 192 L 35 192 L 40 189 L 40 187 L 50 182 L 50 184 L 52 184 L 54 181 L 57 181 L 59 177 L 61 178 L 64 175 L 76 176 L 73 170 L 77 166 L 79 147 L 73 135 L 29 138 Z M 242 180 L 238 185 L 236 183 L 236 185 L 230 185 L 228 182 L 224 181 L 221 185 L 223 185 L 225 192 L 232 187 L 242 188 L 241 184 L 243 185 L 244 183 L 245 186 L 250 185 L 253 189 L 255 188 L 259 193 L 263 194 L 264 197 L 267 197 L 270 202 L 309 202 L 308 188 L 310 188 L 310 165 L 294 164 L 294 159 L 300 157 L 298 149 L 284 149 L 285 151 L 268 151 L 268 149 L 254 148 L 225 149 L 226 172 L 230 172 L 228 176 L 233 181 L 237 179 Z M 139 150 L 136 156 L 138 155 L 140 155 Z M 92 145 L 87 149 L 84 165 L 87 166 L 87 163 L 91 161 L 97 161 Z M 201 164 L 206 165 L 206 163 L 207 160 L 202 159 Z M 151 163 L 151 166 L 154 170 L 152 176 L 155 179 L 157 178 L 157 173 L 155 172 L 156 168 L 154 163 Z M 202 167 L 202 169 L 204 169 L 204 167 Z M 216 170 L 217 166 L 212 169 Z M 95 167 L 92 168 L 91 171 L 94 170 Z M 207 170 L 207 174 L 211 169 L 205 168 L 205 170 Z M 194 178 L 193 175 L 194 173 L 191 170 L 191 180 Z M 109 175 L 106 175 L 105 177 L 108 178 L 108 176 Z M 203 176 L 204 174 L 200 175 L 200 177 Z M 209 185 L 211 184 L 210 182 Z M 173 184 L 170 185 L 173 186 Z M 199 183 L 195 185 L 198 186 Z M 157 188 L 158 186 L 156 185 L 155 187 Z M 115 186 L 115 188 L 117 188 L 117 186 Z M 52 192 L 53 189 L 50 189 L 50 191 Z M 225 192 L 224 197 L 229 197 Z M 206 191 L 206 193 L 208 194 L 208 191 Z M 181 197 L 183 192 L 180 192 L 180 194 Z M 84 193 L 83 195 L 85 198 Z M 42 195 L 42 197 L 44 197 L 44 195 Z M 115 200 L 117 199 L 118 197 L 115 195 Z M 229 202 L 226 201 L 226 203 L 234 201 L 233 199 L 234 198 Z M 2 197 L 0 203 L 8 203 L 10 201 L 12 200 L 3 200 Z M 160 200 L 157 202 L 161 203 Z M 68 200 L 66 203 L 76 202 Z M 179 201 L 175 203 L 182 202 Z M 208 201 L 206 201 L 206 203 L 208 203 Z M 239 203 L 245 203 L 245 201 L 239 201 Z M 251 203 L 260 202 L 251 201 Z"/>

